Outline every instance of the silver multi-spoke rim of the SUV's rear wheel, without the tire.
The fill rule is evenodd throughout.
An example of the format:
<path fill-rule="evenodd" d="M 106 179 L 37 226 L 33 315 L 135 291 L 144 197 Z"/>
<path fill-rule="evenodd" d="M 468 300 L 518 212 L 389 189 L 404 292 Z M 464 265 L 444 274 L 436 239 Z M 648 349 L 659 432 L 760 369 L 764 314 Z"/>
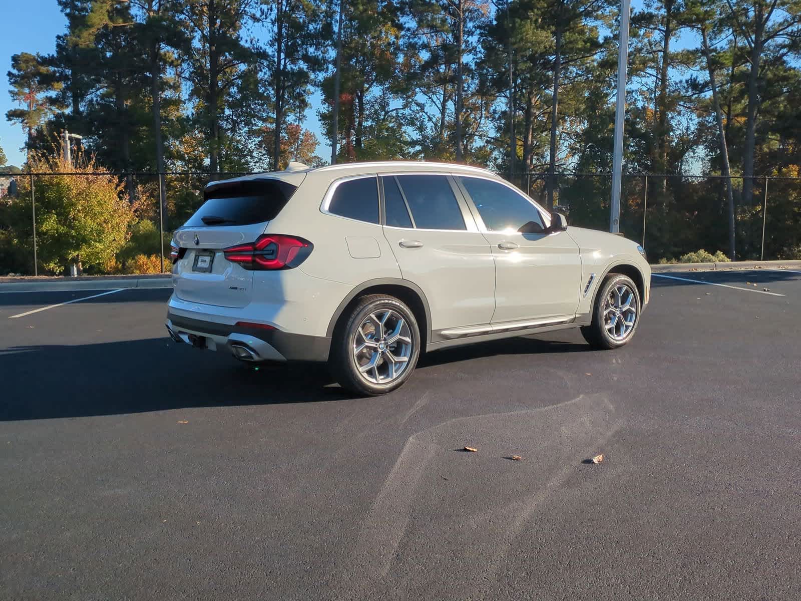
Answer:
<path fill-rule="evenodd" d="M 373 384 L 388 384 L 400 377 L 412 352 L 412 333 L 397 311 L 379 309 L 356 329 L 353 359 L 361 377 Z"/>

